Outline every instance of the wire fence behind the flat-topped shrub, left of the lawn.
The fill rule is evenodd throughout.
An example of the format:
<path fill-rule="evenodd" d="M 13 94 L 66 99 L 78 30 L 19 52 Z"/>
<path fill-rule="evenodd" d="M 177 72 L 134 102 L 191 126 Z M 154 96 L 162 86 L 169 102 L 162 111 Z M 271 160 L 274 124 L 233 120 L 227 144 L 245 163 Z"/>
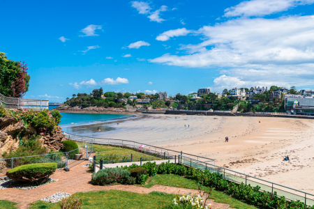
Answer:
<path fill-rule="evenodd" d="M 80 150 L 80 154 L 82 154 L 82 159 L 74 160 L 73 153 L 76 150 Z M 68 169 L 70 167 L 75 166 L 89 158 L 91 153 L 93 152 L 93 141 L 87 141 L 87 144 L 80 146 L 75 150 L 70 150 L 69 152 L 63 153 L 50 153 L 46 155 L 32 155 L 26 157 L 11 157 L 0 159 L 0 177 L 6 176 L 6 171 L 13 169 L 15 167 L 19 167 L 24 164 L 33 164 L 33 163 L 43 163 L 43 162 L 57 162 L 58 169 Z"/>

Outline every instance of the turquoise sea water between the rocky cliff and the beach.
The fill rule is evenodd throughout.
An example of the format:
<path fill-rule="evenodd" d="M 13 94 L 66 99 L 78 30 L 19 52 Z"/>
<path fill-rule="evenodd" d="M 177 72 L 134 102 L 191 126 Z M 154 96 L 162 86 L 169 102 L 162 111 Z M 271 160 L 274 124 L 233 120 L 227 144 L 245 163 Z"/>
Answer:
<path fill-rule="evenodd" d="M 57 106 L 49 106 L 49 109 L 54 109 Z M 111 123 L 119 123 L 132 118 L 137 118 L 137 115 L 130 114 L 85 114 L 85 113 L 61 113 L 61 123 L 59 126 L 63 132 L 75 134 L 85 137 L 98 137 L 103 132 L 114 130 Z M 99 128 L 99 131 L 98 131 Z"/>

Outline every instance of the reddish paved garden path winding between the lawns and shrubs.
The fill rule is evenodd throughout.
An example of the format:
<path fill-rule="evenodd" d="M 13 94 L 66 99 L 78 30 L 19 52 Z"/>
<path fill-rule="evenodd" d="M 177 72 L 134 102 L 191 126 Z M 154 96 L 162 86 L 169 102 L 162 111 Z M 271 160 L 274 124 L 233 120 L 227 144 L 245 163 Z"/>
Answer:
<path fill-rule="evenodd" d="M 31 190 L 21 190 L 21 189 L 3 189 L 0 190 L 0 199 L 8 200 L 18 203 L 16 206 L 18 208 L 29 208 L 29 203 L 38 201 L 47 196 L 55 194 L 57 192 L 66 192 L 68 194 L 74 194 L 76 192 L 89 192 L 89 191 L 99 191 L 99 190 L 110 190 L 118 189 L 127 192 L 136 192 L 140 194 L 149 194 L 149 192 L 165 192 L 168 194 L 187 194 L 191 192 L 192 194 L 198 194 L 195 189 L 184 189 L 178 187 L 167 187 L 161 185 L 154 185 L 151 188 L 138 187 L 134 185 L 108 185 L 108 186 L 96 186 L 91 185 L 91 172 L 87 167 L 82 167 L 82 165 L 87 164 L 87 161 L 83 161 L 77 164 L 75 167 L 70 168 L 69 172 L 63 170 L 57 170 L 51 178 L 59 179 L 55 183 L 50 183 L 47 185 L 40 186 L 36 189 Z M 229 205 L 223 203 L 211 202 L 212 209 L 227 209 Z"/>

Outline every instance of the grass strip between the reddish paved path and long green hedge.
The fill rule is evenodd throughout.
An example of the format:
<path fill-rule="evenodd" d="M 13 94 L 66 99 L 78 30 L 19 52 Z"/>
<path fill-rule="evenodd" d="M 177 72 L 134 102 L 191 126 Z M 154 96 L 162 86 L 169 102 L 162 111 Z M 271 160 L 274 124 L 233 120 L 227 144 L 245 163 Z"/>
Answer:
<path fill-rule="evenodd" d="M 152 187 L 154 185 L 164 185 L 171 187 L 181 187 L 187 189 L 198 189 L 195 181 L 177 176 L 172 174 L 162 174 L 156 175 L 151 178 L 151 181 L 147 185 L 142 185 L 142 187 Z M 209 187 L 204 187 L 205 191 L 209 192 Z M 246 203 L 242 203 L 237 199 L 233 199 L 227 194 L 223 192 L 217 192 L 216 190 L 212 190 L 210 199 L 214 199 L 216 203 L 226 203 L 230 205 L 230 208 L 239 208 L 239 209 L 253 209 L 254 206 L 250 206 Z M 256 208 L 255 208 L 256 209 Z"/>

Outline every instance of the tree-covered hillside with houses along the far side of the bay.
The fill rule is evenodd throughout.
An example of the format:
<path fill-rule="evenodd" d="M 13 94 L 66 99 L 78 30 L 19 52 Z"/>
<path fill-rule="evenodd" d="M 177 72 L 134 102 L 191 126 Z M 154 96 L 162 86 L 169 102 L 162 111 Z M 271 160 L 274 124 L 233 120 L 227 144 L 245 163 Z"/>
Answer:
<path fill-rule="evenodd" d="M 221 110 L 239 112 L 285 112 L 288 114 L 314 114 L 314 91 L 271 86 L 248 88 L 225 88 L 222 93 L 211 92 L 209 88 L 199 88 L 188 95 L 103 92 L 103 88 L 92 93 L 73 94 L 63 105 L 69 107 L 112 107 L 137 109 L 185 109 Z"/>

